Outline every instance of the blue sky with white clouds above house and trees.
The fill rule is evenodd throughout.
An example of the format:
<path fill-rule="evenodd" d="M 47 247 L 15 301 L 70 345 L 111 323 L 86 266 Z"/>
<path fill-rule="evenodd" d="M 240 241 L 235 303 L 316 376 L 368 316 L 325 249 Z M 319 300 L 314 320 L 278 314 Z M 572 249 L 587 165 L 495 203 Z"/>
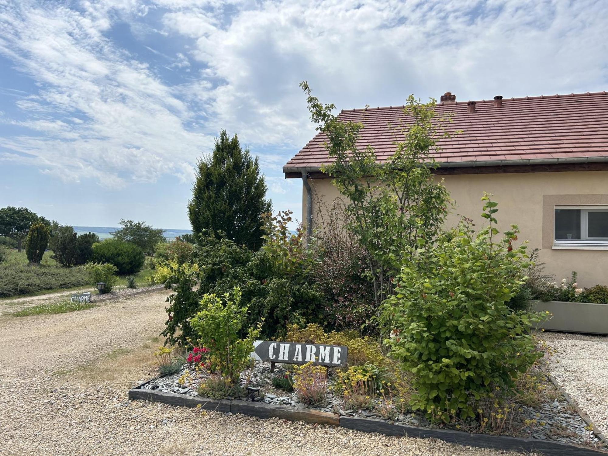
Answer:
<path fill-rule="evenodd" d="M 189 229 L 225 129 L 300 218 L 300 81 L 337 109 L 604 91 L 606 24 L 603 0 L 0 0 L 0 207 Z"/>

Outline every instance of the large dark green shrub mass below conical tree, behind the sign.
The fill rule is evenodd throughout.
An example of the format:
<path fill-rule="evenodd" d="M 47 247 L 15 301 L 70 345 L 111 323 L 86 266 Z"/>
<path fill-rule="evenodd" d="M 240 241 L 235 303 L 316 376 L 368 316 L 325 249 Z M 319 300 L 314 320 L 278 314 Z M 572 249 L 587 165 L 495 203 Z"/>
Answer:
<path fill-rule="evenodd" d="M 263 321 L 264 337 L 283 335 L 289 323 L 321 322 L 323 295 L 312 280 L 311 253 L 303 246 L 300 231 L 292 235 L 287 229 L 289 213 L 273 218 L 266 216 L 266 244 L 252 253 L 223 237 L 199 237 L 196 271 L 171 268 L 168 278 L 178 284 L 168 297 L 167 327 L 163 335 L 171 344 L 187 344 L 192 334 L 190 318 L 206 294 L 221 296 L 240 287 L 247 303 L 246 326 Z M 198 282 L 198 289 L 193 286 Z M 180 334 L 181 333 L 181 334 Z"/>

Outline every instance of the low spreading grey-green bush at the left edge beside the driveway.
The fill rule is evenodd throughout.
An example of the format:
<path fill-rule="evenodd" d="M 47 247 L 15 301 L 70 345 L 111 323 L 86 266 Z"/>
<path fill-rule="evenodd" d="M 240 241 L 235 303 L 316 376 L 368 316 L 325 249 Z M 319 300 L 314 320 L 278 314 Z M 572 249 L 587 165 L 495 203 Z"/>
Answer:
<path fill-rule="evenodd" d="M 88 283 L 89 276 L 84 268 L 30 266 L 16 261 L 5 261 L 0 264 L 0 297 L 72 288 Z"/>

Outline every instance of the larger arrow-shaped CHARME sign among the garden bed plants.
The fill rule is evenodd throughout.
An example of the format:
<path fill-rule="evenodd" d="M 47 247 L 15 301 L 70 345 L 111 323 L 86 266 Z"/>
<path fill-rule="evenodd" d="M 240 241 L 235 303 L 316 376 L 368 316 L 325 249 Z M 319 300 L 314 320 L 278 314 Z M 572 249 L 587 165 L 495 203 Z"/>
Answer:
<path fill-rule="evenodd" d="M 256 361 L 270 361 L 271 372 L 276 362 L 285 364 L 306 364 L 326 367 L 344 367 L 347 364 L 348 347 L 345 345 L 300 344 L 299 342 L 275 342 L 256 340 L 251 358 Z"/>

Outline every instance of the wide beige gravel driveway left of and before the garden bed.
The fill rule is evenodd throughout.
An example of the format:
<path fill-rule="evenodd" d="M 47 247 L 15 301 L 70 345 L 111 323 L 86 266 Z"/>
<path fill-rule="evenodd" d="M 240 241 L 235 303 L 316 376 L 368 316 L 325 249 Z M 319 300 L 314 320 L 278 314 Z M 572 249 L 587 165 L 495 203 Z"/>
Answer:
<path fill-rule="evenodd" d="M 154 373 L 166 292 L 0 317 L 2 455 L 516 455 L 127 400 Z M 59 371 L 59 372 L 58 372 Z"/>

